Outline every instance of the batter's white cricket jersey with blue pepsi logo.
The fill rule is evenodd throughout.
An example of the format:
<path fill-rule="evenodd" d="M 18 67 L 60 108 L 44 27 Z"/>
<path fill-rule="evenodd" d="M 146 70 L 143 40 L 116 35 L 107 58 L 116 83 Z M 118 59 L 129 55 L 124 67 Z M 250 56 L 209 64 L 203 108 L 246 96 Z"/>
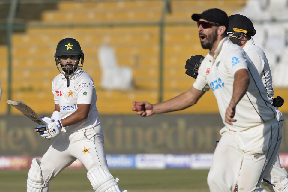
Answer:
<path fill-rule="evenodd" d="M 60 119 L 71 115 L 77 110 L 77 104 L 90 104 L 88 118 L 74 125 L 66 126 L 67 131 L 81 131 L 96 127 L 100 124 L 99 113 L 96 107 L 97 95 L 94 81 L 84 70 L 78 69 L 70 76 L 70 85 L 67 87 L 65 76 L 60 73 L 52 81 L 54 103 L 60 105 Z"/>

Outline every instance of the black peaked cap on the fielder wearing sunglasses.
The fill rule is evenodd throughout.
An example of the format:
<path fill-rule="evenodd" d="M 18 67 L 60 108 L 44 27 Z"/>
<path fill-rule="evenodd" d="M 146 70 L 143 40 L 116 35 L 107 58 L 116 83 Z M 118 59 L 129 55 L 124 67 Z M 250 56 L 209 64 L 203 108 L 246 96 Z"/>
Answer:
<path fill-rule="evenodd" d="M 229 23 L 228 16 L 221 9 L 217 9 L 217 8 L 207 9 L 203 11 L 202 14 L 193 14 L 191 17 L 194 21 L 199 21 L 199 19 L 202 18 L 207 21 L 211 21 L 211 22 L 215 22 L 220 25 L 223 25 L 226 27 L 226 30 L 228 29 L 228 23 Z"/>

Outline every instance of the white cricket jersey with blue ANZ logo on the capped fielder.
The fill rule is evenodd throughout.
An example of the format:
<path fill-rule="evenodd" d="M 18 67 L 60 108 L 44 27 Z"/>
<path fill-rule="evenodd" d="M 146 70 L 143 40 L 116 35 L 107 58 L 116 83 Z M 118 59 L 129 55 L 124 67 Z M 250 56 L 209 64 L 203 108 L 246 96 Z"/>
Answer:
<path fill-rule="evenodd" d="M 236 113 L 229 125 L 225 122 L 225 112 L 233 93 L 234 74 L 240 69 L 247 69 L 250 80 L 246 94 L 236 106 Z M 233 131 L 243 131 L 252 126 L 272 121 L 276 112 L 268 101 L 266 89 L 258 71 L 245 51 L 223 38 L 212 57 L 209 52 L 199 67 L 198 76 L 193 87 L 208 91 L 212 89 L 222 117 L 223 123 Z"/>

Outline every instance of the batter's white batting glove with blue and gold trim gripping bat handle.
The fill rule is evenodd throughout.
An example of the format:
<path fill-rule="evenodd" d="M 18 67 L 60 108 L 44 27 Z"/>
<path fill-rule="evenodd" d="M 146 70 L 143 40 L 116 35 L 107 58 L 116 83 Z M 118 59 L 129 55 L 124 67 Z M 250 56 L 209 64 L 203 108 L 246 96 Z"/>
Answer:
<path fill-rule="evenodd" d="M 49 122 L 47 125 L 41 125 L 39 127 L 36 127 L 34 131 L 36 131 L 37 134 L 41 135 L 41 137 L 50 140 L 60 133 L 59 128 L 62 127 L 62 123 L 60 119 L 58 119 L 55 122 Z"/>

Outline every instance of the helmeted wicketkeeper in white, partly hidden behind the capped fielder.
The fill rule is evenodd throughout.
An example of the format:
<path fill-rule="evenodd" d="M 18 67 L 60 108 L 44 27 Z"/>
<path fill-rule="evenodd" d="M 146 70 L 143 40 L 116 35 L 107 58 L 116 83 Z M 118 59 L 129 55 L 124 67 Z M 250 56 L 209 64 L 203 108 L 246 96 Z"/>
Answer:
<path fill-rule="evenodd" d="M 238 44 L 247 53 L 253 64 L 255 65 L 261 79 L 264 84 L 268 101 L 274 106 L 277 113 L 277 120 L 279 121 L 280 127 L 283 126 L 283 115 L 278 110 L 284 100 L 281 97 L 274 98 L 274 90 L 272 88 L 272 76 L 269 67 L 268 60 L 263 50 L 254 44 L 251 36 L 256 34 L 253 23 L 249 18 L 243 15 L 231 15 L 228 17 L 229 27 L 227 34 L 229 39 L 234 43 Z M 273 102 L 274 101 L 274 102 Z M 269 187 L 272 192 L 288 191 L 288 174 L 285 168 L 281 167 L 279 161 L 279 153 L 273 160 L 272 166 L 269 171 L 265 174 L 262 184 Z M 257 187 L 256 191 L 264 191 L 261 189 L 261 185 Z"/>

